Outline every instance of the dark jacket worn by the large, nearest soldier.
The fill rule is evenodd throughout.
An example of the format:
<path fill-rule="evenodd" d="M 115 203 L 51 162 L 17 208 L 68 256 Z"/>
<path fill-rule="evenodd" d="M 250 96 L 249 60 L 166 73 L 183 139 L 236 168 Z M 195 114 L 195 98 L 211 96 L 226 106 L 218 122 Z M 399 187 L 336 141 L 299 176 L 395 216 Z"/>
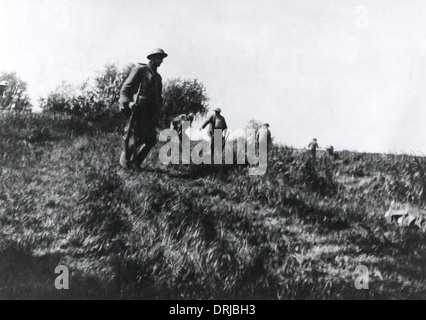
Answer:
<path fill-rule="evenodd" d="M 140 92 L 138 90 L 140 88 Z M 163 103 L 162 79 L 150 64 L 139 63 L 130 72 L 120 91 L 120 108 L 128 108 L 130 102 L 137 103 L 144 120 L 158 124 Z"/>

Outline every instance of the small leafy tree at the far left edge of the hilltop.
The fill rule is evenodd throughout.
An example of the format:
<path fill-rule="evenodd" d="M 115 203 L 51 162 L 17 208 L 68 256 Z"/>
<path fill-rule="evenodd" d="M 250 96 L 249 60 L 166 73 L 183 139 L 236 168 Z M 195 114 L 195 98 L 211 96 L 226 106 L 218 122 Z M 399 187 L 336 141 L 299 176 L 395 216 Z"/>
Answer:
<path fill-rule="evenodd" d="M 9 82 L 9 87 L 4 92 L 4 99 L 0 101 L 0 109 L 15 112 L 31 112 L 32 105 L 27 94 L 27 83 L 22 81 L 16 75 L 16 72 L 2 72 L 0 80 Z"/>

